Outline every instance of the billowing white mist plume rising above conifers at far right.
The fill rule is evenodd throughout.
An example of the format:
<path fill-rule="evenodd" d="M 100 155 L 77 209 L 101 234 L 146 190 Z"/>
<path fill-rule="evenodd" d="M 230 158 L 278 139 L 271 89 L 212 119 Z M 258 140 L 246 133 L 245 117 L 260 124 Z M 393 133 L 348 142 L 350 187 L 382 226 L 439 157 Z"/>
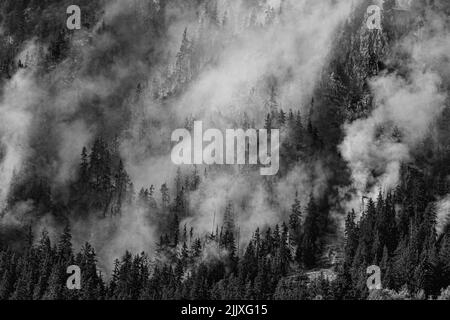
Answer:
<path fill-rule="evenodd" d="M 401 163 L 430 133 L 448 98 L 442 90 L 450 68 L 450 36 L 441 17 L 427 16 L 425 26 L 398 44 L 408 55 L 407 76 L 382 74 L 370 82 L 375 109 L 367 119 L 345 126 L 340 151 L 352 170 L 356 195 L 348 210 L 359 209 L 362 196 L 398 184 Z M 393 58 L 396 59 L 395 57 Z"/>

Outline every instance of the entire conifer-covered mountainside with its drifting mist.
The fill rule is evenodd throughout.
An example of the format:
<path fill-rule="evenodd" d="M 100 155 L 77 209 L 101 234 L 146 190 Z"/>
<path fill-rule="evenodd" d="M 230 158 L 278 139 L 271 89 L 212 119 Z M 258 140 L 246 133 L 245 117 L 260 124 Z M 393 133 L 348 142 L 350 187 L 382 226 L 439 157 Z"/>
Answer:
<path fill-rule="evenodd" d="M 450 299 L 450 4 L 310 2 L 3 0 L 0 300 Z M 195 120 L 278 175 L 167 169 Z"/>

